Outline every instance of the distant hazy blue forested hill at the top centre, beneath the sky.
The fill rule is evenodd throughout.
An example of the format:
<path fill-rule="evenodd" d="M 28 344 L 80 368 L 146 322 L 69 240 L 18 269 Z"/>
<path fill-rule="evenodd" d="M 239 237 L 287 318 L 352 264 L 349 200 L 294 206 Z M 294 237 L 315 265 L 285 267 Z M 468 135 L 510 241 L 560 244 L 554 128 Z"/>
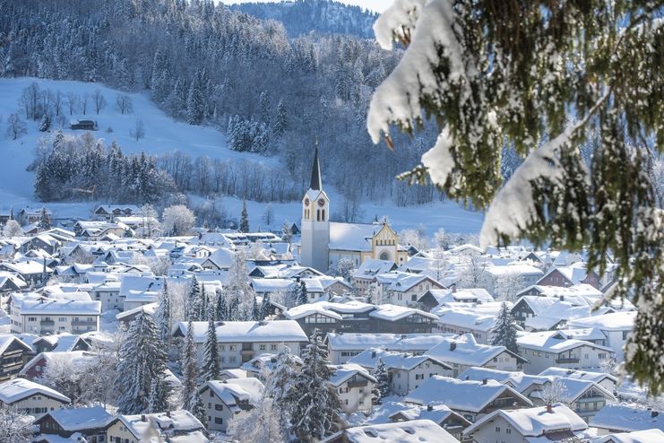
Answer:
<path fill-rule="evenodd" d="M 289 37 L 298 37 L 315 31 L 373 39 L 372 27 L 377 18 L 376 13 L 370 13 L 359 6 L 349 6 L 331 0 L 246 3 L 233 4 L 229 7 L 259 19 L 282 22 Z"/>

